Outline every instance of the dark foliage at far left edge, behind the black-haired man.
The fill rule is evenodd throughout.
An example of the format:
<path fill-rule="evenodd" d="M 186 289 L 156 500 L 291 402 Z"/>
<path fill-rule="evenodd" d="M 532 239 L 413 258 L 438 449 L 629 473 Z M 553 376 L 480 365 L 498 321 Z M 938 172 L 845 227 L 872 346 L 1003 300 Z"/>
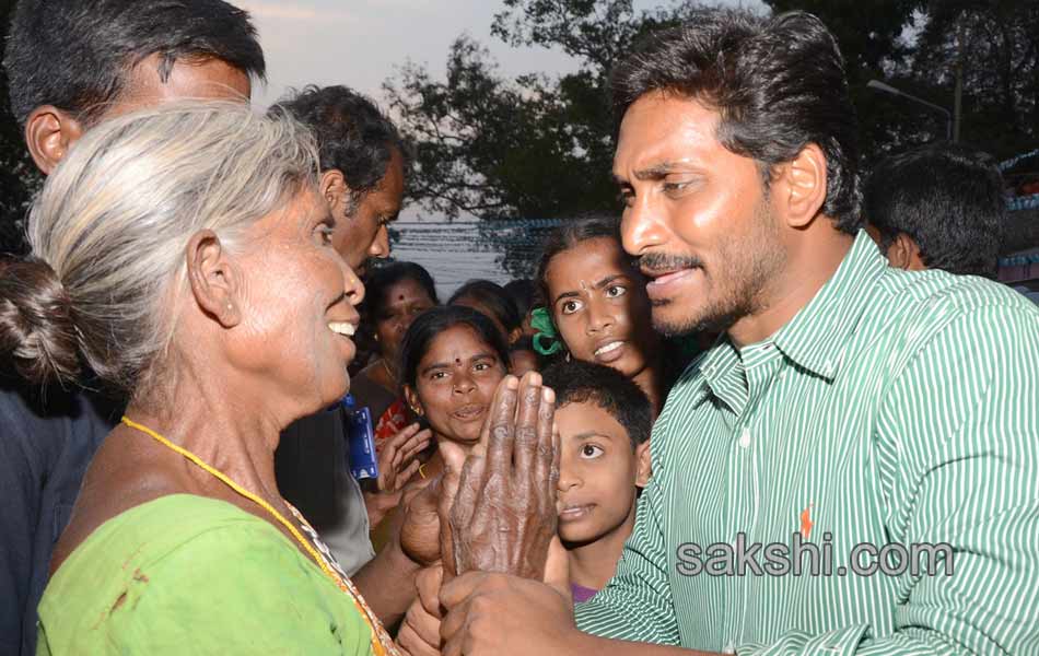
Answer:
<path fill-rule="evenodd" d="M 14 0 L 0 0 L 0 42 L 4 42 Z M 7 71 L 0 69 L 0 253 L 25 251 L 24 219 L 40 176 L 11 116 Z"/>

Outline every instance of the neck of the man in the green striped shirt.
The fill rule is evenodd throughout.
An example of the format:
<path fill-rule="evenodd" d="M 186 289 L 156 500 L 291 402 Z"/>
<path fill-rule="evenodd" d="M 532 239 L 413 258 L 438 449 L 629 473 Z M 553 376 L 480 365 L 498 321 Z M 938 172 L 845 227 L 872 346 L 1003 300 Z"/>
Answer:
<path fill-rule="evenodd" d="M 818 230 L 824 226 L 818 226 Z M 775 335 L 819 293 L 854 244 L 854 235 L 825 226 L 826 233 L 805 238 L 789 253 L 789 266 L 775 277 L 759 298 L 759 308 L 728 328 L 736 348 L 758 343 Z"/>

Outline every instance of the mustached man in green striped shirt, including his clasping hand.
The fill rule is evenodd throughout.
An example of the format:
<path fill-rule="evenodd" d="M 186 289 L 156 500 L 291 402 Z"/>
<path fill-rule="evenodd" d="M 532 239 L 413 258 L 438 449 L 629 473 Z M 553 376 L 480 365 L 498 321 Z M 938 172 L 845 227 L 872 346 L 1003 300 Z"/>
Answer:
<path fill-rule="evenodd" d="M 608 586 L 574 623 L 551 586 L 456 578 L 444 653 L 1039 654 L 1039 311 L 886 266 L 832 35 L 705 12 L 614 93 L 654 324 L 724 335 L 654 427 Z M 798 541 L 829 567 L 783 574 Z"/>

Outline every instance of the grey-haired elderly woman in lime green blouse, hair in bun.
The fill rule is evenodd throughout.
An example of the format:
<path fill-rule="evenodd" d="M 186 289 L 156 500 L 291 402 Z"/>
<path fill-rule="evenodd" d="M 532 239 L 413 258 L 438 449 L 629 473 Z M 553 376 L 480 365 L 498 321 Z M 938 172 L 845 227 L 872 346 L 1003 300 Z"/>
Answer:
<path fill-rule="evenodd" d="M 331 247 L 291 119 L 173 105 L 87 133 L 48 179 L 32 256 L 0 265 L 0 356 L 129 399 L 87 470 L 39 651 L 388 654 L 273 453 L 348 389 L 363 288 Z"/>

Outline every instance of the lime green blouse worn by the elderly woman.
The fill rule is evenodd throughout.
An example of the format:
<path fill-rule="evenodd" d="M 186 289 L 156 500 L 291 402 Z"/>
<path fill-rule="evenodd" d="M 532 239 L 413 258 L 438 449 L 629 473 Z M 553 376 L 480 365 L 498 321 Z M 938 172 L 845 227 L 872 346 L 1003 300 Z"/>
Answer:
<path fill-rule="evenodd" d="M 174 494 L 83 541 L 39 604 L 37 654 L 371 654 L 343 594 L 272 525 Z"/>

